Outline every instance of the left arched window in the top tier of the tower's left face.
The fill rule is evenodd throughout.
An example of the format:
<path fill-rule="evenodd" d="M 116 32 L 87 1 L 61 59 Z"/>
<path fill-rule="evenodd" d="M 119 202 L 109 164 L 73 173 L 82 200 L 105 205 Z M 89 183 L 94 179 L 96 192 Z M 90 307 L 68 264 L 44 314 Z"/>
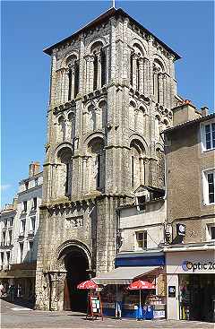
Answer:
<path fill-rule="evenodd" d="M 73 100 L 79 92 L 79 61 L 71 55 L 66 60 L 68 68 L 68 100 Z"/>

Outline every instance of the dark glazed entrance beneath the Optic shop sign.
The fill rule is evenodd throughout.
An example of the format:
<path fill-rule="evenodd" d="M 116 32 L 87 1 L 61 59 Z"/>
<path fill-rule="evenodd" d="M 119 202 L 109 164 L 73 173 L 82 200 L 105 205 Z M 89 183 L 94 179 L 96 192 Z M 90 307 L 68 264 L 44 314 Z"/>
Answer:
<path fill-rule="evenodd" d="M 214 322 L 214 274 L 179 275 L 180 319 Z"/>

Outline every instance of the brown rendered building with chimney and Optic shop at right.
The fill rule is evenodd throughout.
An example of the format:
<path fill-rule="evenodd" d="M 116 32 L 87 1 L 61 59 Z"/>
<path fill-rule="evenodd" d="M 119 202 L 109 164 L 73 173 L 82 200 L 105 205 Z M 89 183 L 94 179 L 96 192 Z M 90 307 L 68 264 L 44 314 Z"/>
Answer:
<path fill-rule="evenodd" d="M 214 321 L 215 114 L 185 101 L 173 124 L 164 132 L 168 318 Z"/>

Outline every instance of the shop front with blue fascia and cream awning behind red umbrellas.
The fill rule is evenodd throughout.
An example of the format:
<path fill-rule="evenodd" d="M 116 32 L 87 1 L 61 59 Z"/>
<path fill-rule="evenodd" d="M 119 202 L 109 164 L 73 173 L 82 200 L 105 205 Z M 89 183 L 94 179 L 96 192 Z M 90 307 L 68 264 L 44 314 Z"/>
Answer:
<path fill-rule="evenodd" d="M 140 266 L 140 264 L 142 265 Z M 165 291 L 163 290 L 159 295 L 162 281 L 160 278 L 165 277 L 163 275 L 164 255 L 118 254 L 116 255 L 116 266 L 120 267 L 92 278 L 93 281 L 104 287 L 101 290 L 104 315 L 116 316 L 116 301 L 120 301 L 121 316 L 136 318 L 140 312 L 141 299 L 143 318 L 165 318 Z M 155 289 L 128 290 L 129 284 L 137 280 L 150 282 Z"/>

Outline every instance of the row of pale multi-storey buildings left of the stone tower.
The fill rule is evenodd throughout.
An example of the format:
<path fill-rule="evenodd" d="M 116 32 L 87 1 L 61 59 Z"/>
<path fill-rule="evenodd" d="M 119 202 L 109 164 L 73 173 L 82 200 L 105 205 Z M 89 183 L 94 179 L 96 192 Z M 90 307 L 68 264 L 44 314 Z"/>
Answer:
<path fill-rule="evenodd" d="M 33 299 L 35 290 L 42 183 L 39 162 L 30 163 L 29 177 L 19 183 L 13 206 L 1 212 L 0 280 L 6 286 L 13 283 L 24 299 Z"/>

